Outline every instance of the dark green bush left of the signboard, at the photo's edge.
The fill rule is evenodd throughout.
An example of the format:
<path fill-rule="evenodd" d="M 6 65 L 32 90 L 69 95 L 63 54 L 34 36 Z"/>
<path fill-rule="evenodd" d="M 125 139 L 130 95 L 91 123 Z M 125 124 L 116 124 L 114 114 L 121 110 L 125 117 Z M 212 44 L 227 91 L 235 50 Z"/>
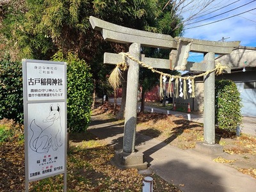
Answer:
<path fill-rule="evenodd" d="M 0 61 L 0 119 L 23 122 L 22 63 Z"/>

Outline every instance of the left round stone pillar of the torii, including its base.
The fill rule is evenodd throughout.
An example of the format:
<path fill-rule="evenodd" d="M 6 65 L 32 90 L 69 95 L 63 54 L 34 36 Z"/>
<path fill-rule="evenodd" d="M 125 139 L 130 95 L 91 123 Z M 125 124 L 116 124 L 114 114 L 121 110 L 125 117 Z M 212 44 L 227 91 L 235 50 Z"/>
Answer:
<path fill-rule="evenodd" d="M 129 47 L 129 52 L 132 57 L 141 60 L 140 49 L 141 44 L 133 43 Z M 123 148 L 116 150 L 115 156 L 111 159 L 111 163 L 121 169 L 147 169 L 147 162 L 143 161 L 143 154 L 135 150 L 139 71 L 139 64 L 130 60 L 127 74 Z"/>

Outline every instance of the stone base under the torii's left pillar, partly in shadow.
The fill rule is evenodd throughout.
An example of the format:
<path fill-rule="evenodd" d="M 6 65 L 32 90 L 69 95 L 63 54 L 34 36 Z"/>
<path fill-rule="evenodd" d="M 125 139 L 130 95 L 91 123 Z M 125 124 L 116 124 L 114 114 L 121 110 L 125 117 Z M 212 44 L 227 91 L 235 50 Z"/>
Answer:
<path fill-rule="evenodd" d="M 141 152 L 132 152 L 127 154 L 120 150 L 115 150 L 115 156 L 111 159 L 110 163 L 121 170 L 136 168 L 138 170 L 147 169 L 147 162 L 143 160 Z"/>

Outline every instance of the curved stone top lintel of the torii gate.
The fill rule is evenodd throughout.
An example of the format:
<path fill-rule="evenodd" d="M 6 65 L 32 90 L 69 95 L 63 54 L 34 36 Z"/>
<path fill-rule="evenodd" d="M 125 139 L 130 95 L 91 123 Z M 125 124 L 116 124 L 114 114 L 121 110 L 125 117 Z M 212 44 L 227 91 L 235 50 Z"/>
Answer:
<path fill-rule="evenodd" d="M 121 44 L 138 43 L 144 47 L 158 47 L 164 49 L 177 49 L 179 42 L 192 42 L 191 52 L 214 52 L 216 54 L 228 54 L 234 47 L 238 47 L 240 42 L 214 42 L 207 40 L 197 40 L 193 38 L 175 37 L 159 33 L 151 33 L 138 29 L 125 28 L 111 22 L 90 16 L 92 28 L 100 31 L 104 40 Z"/>

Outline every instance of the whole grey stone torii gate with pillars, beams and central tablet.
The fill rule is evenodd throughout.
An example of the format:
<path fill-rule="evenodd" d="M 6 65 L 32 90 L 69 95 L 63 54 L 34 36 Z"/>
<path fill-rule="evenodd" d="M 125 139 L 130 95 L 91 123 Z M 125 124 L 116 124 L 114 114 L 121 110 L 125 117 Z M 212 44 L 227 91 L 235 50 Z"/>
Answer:
<path fill-rule="evenodd" d="M 212 42 L 191 38 L 175 37 L 158 33 L 150 33 L 138 29 L 125 28 L 90 16 L 93 29 L 100 31 L 104 40 L 122 44 L 131 44 L 129 54 L 133 58 L 147 63 L 153 68 L 171 68 L 175 70 L 194 70 L 205 72 L 215 68 L 215 54 L 229 54 L 240 42 Z M 170 60 L 147 58 L 140 54 L 141 47 L 157 47 L 172 49 Z M 204 53 L 203 63 L 188 62 L 190 52 Z M 104 63 L 116 65 L 124 59 L 120 54 L 104 53 Z M 119 168 L 147 168 L 143 162 L 143 154 L 135 150 L 136 119 L 139 64 L 127 59 L 127 99 L 125 104 L 124 144 L 116 150 L 112 163 Z M 227 70 L 230 72 L 230 70 Z M 220 154 L 223 148 L 215 143 L 214 124 L 214 84 L 215 74 L 204 76 L 204 142 L 196 143 L 196 148 L 207 154 Z"/>

